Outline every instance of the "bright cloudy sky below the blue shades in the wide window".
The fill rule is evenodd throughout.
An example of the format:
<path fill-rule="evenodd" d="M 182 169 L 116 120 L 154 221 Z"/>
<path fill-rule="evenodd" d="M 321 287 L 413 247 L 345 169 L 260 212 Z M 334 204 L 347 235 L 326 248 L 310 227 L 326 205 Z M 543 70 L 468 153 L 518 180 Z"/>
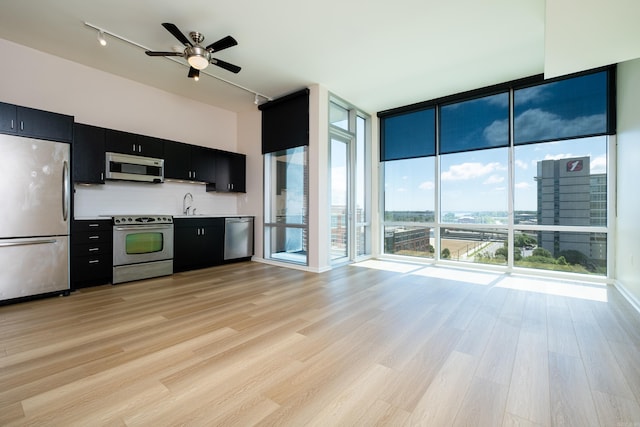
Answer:
<path fill-rule="evenodd" d="M 594 137 L 518 146 L 514 149 L 514 209 L 537 209 L 537 163 L 591 157 L 591 173 L 605 173 L 607 139 Z M 447 154 L 441 159 L 443 212 L 507 211 L 508 148 Z M 435 158 L 385 162 L 385 209 L 434 210 Z"/>

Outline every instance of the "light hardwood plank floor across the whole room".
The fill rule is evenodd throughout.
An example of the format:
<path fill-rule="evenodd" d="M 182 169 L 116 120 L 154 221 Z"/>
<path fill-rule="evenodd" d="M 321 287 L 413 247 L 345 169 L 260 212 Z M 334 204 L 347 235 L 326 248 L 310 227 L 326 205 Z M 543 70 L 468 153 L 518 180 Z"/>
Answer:
<path fill-rule="evenodd" d="M 0 425 L 637 427 L 640 315 L 383 261 L 89 288 L 0 307 Z"/>

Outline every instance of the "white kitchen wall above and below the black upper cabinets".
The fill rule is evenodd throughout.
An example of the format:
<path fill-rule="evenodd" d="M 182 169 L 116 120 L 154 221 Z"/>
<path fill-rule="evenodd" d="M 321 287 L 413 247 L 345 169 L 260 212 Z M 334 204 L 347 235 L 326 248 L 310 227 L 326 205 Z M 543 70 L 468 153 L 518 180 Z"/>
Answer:
<path fill-rule="evenodd" d="M 4 58 L 0 61 L 0 101 L 72 115 L 80 123 L 248 154 L 238 148 L 238 118 L 234 112 L 3 39 L 0 55 Z M 255 138 L 255 134 L 249 138 Z M 254 143 L 259 146 L 259 134 Z M 243 148 L 251 145 L 245 138 Z M 255 160 L 249 158 L 248 164 Z M 202 213 L 261 212 L 261 209 L 239 210 L 242 195 L 206 193 L 204 185 L 165 183 L 150 187 L 108 183 L 77 186 L 75 214 L 77 217 L 120 212 L 176 215 L 182 211 L 182 197 L 187 192 L 193 194 L 194 206 Z M 243 209 L 249 207 L 253 209 L 253 204 L 242 205 Z"/>

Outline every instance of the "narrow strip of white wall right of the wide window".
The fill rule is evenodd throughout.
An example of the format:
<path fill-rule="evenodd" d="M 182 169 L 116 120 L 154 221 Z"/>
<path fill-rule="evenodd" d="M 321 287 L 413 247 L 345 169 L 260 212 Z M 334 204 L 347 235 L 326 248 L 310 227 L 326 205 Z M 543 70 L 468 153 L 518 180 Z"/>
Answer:
<path fill-rule="evenodd" d="M 622 63 L 617 73 L 616 285 L 640 310 L 640 60 Z"/>

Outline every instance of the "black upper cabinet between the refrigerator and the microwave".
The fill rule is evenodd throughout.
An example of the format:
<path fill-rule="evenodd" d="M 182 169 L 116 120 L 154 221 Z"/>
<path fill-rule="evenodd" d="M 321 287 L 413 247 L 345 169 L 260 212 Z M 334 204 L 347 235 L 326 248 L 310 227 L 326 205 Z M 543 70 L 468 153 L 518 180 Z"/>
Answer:
<path fill-rule="evenodd" d="M 106 130 L 76 123 L 73 132 L 71 145 L 73 182 L 104 184 Z"/>

